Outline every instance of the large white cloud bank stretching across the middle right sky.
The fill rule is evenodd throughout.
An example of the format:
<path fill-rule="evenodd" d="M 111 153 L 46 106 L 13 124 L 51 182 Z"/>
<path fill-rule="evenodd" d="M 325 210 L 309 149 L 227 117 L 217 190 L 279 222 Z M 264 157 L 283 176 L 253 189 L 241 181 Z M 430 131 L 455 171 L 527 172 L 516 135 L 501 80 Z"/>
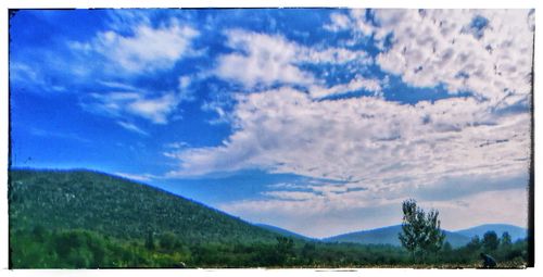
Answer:
<path fill-rule="evenodd" d="M 261 167 L 394 187 L 512 176 L 528 166 L 530 115 L 495 116 L 469 98 L 416 105 L 367 97 L 313 101 L 283 88 L 239 101 L 237 131 L 222 146 L 178 153 L 181 167 L 172 175 Z"/>

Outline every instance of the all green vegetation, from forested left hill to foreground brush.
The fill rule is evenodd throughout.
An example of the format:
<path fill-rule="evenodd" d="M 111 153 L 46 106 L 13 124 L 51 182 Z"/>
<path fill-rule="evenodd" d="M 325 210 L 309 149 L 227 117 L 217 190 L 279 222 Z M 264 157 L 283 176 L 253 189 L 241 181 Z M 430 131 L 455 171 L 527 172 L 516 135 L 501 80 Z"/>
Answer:
<path fill-rule="evenodd" d="M 483 251 L 498 267 L 520 267 L 527 259 L 526 240 L 490 234 L 462 248 L 445 243 L 414 263 L 400 247 L 285 237 L 86 171 L 12 171 L 9 201 L 11 268 L 477 267 Z"/>

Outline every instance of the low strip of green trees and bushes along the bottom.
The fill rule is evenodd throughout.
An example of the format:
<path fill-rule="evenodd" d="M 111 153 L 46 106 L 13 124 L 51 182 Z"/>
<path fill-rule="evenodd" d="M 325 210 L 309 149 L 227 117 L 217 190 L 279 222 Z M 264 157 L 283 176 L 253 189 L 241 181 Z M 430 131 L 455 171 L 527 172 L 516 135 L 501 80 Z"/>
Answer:
<path fill-rule="evenodd" d="M 495 235 L 495 232 L 494 232 Z M 10 234 L 11 268 L 110 267 L 479 267 L 479 253 L 493 255 L 498 267 L 521 267 L 526 241 L 494 235 L 473 239 L 466 247 L 442 251 L 424 264 L 402 248 L 325 243 L 277 237 L 270 242 L 191 242 L 172 232 L 149 234 L 144 240 L 122 240 L 84 229 L 31 230 Z"/>

